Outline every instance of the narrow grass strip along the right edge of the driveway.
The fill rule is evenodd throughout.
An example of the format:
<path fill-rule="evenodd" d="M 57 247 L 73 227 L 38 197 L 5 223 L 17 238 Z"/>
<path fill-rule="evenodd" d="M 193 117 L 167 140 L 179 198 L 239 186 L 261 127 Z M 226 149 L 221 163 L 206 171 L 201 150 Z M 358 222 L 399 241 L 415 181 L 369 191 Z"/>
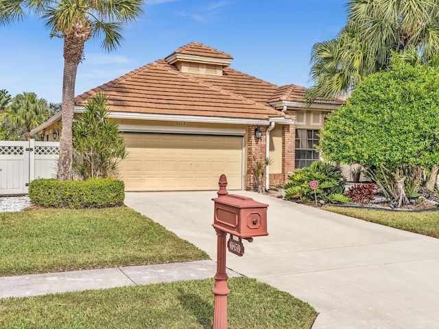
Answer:
<path fill-rule="evenodd" d="M 324 210 L 439 238 L 439 211 L 382 211 L 334 206 L 324 206 Z"/>

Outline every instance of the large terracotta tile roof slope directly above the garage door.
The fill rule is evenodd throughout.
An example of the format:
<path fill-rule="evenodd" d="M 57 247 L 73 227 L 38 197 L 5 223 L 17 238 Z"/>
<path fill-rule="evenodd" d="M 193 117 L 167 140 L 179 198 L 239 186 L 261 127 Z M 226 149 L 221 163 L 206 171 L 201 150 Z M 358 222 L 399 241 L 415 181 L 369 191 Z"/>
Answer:
<path fill-rule="evenodd" d="M 194 75 L 181 73 L 165 60 L 142 66 L 79 95 L 75 97 L 75 104 L 85 105 L 86 99 L 97 92 L 108 95 L 108 106 L 115 112 L 239 119 L 268 119 L 285 115 L 266 103 L 258 103 Z"/>

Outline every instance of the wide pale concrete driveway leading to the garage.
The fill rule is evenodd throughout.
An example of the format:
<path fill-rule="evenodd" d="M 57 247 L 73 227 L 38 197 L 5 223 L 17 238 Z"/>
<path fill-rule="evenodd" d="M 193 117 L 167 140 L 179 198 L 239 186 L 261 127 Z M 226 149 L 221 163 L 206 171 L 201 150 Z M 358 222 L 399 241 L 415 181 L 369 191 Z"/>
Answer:
<path fill-rule="evenodd" d="M 269 204 L 269 236 L 227 267 L 309 302 L 313 329 L 439 328 L 439 240 L 293 204 Z M 216 259 L 215 191 L 126 193 L 126 205 Z"/>

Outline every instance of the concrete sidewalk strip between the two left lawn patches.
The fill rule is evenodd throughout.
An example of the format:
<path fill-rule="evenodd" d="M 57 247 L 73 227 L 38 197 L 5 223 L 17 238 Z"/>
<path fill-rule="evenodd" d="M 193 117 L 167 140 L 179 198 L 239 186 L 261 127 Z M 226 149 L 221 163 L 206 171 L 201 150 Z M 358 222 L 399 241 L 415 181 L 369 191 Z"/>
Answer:
<path fill-rule="evenodd" d="M 106 289 L 176 280 L 205 279 L 212 278 L 215 273 L 215 262 L 212 260 L 198 260 L 189 263 L 6 276 L 0 278 L 0 298 Z M 227 274 L 230 278 L 240 276 L 239 273 L 230 270 L 227 271 Z"/>

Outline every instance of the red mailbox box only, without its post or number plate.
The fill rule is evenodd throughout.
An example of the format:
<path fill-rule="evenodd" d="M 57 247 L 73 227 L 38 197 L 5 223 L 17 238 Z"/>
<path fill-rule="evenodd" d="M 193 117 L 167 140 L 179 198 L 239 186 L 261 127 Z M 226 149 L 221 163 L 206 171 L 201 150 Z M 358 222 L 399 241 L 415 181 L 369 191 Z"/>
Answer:
<path fill-rule="evenodd" d="M 251 197 L 233 194 L 212 200 L 215 202 L 214 228 L 239 238 L 268 235 L 268 204 L 261 204 Z"/>

